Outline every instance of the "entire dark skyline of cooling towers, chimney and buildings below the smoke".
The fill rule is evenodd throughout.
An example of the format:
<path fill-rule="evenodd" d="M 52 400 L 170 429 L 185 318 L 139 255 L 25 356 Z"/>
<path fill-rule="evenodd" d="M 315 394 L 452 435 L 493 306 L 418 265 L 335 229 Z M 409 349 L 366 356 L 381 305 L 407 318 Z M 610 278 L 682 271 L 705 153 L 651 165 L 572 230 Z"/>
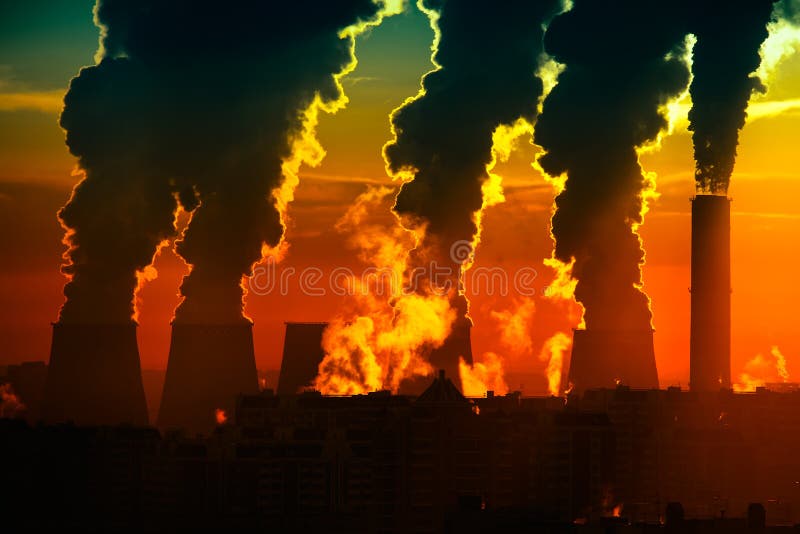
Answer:
<path fill-rule="evenodd" d="M 692 214 L 689 391 L 658 389 L 652 331 L 576 330 L 563 397 L 465 397 L 468 323 L 433 376 L 337 397 L 313 389 L 328 323 L 286 323 L 267 388 L 252 324 L 175 323 L 159 432 L 136 326 L 56 324 L 46 381 L 43 364 L 7 372 L 25 408 L 4 447 L 25 446 L 4 451 L 3 502 L 47 486 L 67 495 L 59 525 L 92 503 L 97 524 L 142 530 L 780 531 L 800 521 L 800 389 L 731 391 L 730 201 L 698 195 Z"/>

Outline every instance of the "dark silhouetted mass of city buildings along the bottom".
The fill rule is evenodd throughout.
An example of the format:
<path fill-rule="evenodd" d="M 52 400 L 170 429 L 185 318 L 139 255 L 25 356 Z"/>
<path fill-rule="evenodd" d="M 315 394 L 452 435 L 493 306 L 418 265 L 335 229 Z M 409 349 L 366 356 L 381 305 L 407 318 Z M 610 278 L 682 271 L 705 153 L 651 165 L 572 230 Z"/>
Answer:
<path fill-rule="evenodd" d="M 766 532 L 800 520 L 798 391 L 465 399 L 440 375 L 416 398 L 241 396 L 206 437 L 24 421 L 0 421 L 0 435 L 13 459 L 5 524 L 29 530 Z"/>

